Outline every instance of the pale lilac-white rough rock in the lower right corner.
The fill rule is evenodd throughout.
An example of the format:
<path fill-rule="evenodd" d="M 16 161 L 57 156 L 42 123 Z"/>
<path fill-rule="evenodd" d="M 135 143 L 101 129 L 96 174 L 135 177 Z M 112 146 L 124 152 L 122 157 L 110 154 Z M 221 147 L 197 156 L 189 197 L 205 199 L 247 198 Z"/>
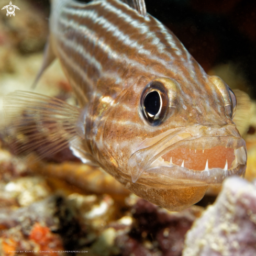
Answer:
<path fill-rule="evenodd" d="M 187 232 L 183 256 L 256 255 L 256 181 L 228 178 Z"/>

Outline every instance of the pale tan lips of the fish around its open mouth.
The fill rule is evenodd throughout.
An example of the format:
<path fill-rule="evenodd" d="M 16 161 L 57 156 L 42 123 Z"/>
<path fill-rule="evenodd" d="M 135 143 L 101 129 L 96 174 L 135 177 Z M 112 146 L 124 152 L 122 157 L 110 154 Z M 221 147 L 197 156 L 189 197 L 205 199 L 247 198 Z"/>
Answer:
<path fill-rule="evenodd" d="M 188 129 L 179 129 L 176 130 L 175 136 L 180 135 L 182 132 L 187 132 Z M 165 183 L 163 180 L 164 177 L 169 177 L 172 180 L 172 183 L 175 182 L 175 184 L 179 185 L 190 185 L 193 183 L 193 185 L 207 185 L 207 184 L 221 184 L 222 180 L 226 176 L 230 175 L 243 175 L 246 170 L 246 161 L 247 161 L 247 151 L 246 151 L 246 143 L 241 138 L 240 134 L 234 129 L 234 127 L 227 126 L 226 128 L 226 135 L 225 132 L 222 132 L 221 135 L 217 134 L 216 136 L 198 136 L 198 132 L 196 132 L 193 136 L 189 136 L 188 138 L 182 139 L 180 141 L 177 141 L 171 146 L 164 148 L 164 144 L 167 144 L 164 142 L 168 141 L 168 137 L 170 137 L 170 134 L 162 138 L 160 141 L 164 142 L 159 147 L 158 144 L 155 143 L 150 147 L 142 148 L 140 150 L 137 150 L 135 153 L 132 154 L 128 161 L 128 165 L 131 170 L 131 178 L 132 182 L 139 183 L 146 178 L 149 180 L 149 176 L 154 176 L 154 180 L 158 177 L 160 180 Z M 172 137 L 172 138 L 173 138 Z M 167 139 L 166 139 L 167 138 Z M 210 143 L 209 143 L 210 141 Z M 209 169 L 207 172 L 204 171 L 192 171 L 187 168 L 183 168 L 181 166 L 156 166 L 152 168 L 152 163 L 160 158 L 165 153 L 169 152 L 170 150 L 173 150 L 175 148 L 188 148 L 188 149 L 211 149 L 216 146 L 223 146 L 226 148 L 232 148 L 234 150 L 243 149 L 243 160 L 241 160 L 239 163 L 237 163 L 236 166 L 232 166 L 231 170 L 223 170 L 220 168 L 215 169 Z M 163 149 L 164 148 L 164 149 Z M 158 151 L 155 153 L 155 151 Z M 153 154 L 153 157 L 146 158 L 147 154 Z M 168 173 L 169 172 L 169 173 Z M 192 175 L 193 173 L 193 175 Z M 162 179 L 163 178 L 163 179 Z M 175 181 L 174 181 L 175 180 Z M 155 181 L 152 181 L 153 183 Z M 147 183 L 146 180 L 144 180 L 142 183 Z M 159 184 L 159 181 L 157 181 Z M 170 187 L 170 183 L 169 183 Z"/>

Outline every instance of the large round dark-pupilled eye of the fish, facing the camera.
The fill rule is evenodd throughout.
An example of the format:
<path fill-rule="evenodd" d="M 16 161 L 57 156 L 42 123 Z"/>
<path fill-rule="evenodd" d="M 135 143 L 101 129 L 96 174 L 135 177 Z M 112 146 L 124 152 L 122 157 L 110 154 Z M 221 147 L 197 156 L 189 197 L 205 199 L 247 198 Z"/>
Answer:
<path fill-rule="evenodd" d="M 142 91 L 140 109 L 144 119 L 152 126 L 160 125 L 168 106 L 168 93 L 160 81 L 151 81 Z"/>

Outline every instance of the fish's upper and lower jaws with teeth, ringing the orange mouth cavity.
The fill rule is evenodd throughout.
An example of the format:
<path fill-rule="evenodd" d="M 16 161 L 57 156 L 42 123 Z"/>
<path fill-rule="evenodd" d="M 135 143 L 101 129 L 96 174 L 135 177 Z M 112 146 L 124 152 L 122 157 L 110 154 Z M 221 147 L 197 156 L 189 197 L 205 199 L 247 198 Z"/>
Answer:
<path fill-rule="evenodd" d="M 162 156 L 174 149 L 207 150 L 221 146 L 234 150 L 235 159 L 227 168 L 191 170 L 182 164 L 164 161 Z M 185 160 L 186 161 L 186 160 Z M 235 126 L 225 127 L 196 125 L 188 128 L 172 129 L 161 135 L 147 139 L 133 153 L 128 161 L 132 182 L 170 183 L 182 186 L 202 186 L 221 184 L 229 175 L 243 175 L 246 170 L 246 144 Z"/>

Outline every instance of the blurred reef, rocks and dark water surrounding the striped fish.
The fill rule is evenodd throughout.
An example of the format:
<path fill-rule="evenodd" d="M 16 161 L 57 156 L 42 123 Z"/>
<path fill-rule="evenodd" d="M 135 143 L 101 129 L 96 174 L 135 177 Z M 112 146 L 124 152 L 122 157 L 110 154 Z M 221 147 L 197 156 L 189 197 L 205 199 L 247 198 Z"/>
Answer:
<path fill-rule="evenodd" d="M 75 105 L 58 61 L 31 85 L 48 37 L 48 1 L 0 10 L 0 255 L 256 255 L 256 2 L 146 0 L 210 75 L 234 90 L 234 121 L 247 143 L 244 177 L 210 187 L 196 205 L 169 212 L 125 190 L 69 149 L 18 158 L 5 133 L 3 97 L 15 90 Z M 1 8 L 9 0 L 0 0 Z M 0 9 L 1 9 L 0 8 Z M 66 252 L 65 252 L 66 251 Z"/>

